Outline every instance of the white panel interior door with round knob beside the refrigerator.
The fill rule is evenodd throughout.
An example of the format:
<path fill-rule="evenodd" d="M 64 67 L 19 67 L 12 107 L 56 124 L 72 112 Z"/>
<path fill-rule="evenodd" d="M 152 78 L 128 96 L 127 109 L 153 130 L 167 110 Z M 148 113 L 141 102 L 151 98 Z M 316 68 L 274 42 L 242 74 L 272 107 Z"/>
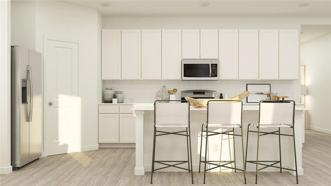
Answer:
<path fill-rule="evenodd" d="M 47 155 L 81 151 L 78 43 L 44 40 L 44 126 Z"/>

